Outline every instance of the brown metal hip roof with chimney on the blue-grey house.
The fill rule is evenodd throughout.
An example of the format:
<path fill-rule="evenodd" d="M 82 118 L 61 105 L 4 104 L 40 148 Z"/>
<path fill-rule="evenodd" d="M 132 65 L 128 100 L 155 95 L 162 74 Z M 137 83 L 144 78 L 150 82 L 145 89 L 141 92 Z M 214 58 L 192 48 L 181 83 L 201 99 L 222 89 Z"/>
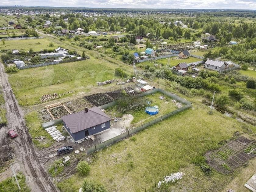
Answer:
<path fill-rule="evenodd" d="M 89 108 L 88 112 L 80 111 L 62 117 L 69 130 L 76 133 L 90 127 L 105 123 L 111 119 L 98 107 Z"/>

